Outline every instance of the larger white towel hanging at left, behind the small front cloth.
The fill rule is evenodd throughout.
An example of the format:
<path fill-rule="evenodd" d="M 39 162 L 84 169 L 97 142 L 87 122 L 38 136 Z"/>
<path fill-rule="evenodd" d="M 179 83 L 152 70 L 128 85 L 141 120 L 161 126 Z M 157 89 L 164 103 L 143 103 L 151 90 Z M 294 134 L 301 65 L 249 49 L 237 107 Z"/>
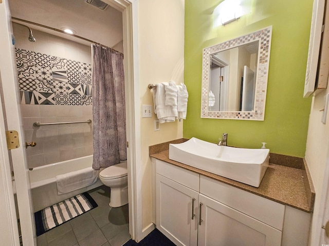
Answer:
<path fill-rule="evenodd" d="M 160 123 L 175 121 L 178 117 L 177 107 L 166 106 L 165 86 L 168 83 L 157 84 L 153 89 L 153 107 Z"/>

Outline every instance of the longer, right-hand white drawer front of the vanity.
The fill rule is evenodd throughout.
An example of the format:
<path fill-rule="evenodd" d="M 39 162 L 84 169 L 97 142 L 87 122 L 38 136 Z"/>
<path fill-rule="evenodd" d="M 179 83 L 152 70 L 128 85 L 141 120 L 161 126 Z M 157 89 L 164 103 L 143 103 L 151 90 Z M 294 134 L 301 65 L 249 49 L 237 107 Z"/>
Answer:
<path fill-rule="evenodd" d="M 285 206 L 200 175 L 200 193 L 282 231 Z"/>

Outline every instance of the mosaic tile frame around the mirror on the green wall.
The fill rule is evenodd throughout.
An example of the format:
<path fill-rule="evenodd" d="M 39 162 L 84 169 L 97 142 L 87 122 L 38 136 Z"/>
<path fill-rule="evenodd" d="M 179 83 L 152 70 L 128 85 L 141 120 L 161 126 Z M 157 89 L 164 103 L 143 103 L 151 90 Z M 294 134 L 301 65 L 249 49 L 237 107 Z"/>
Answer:
<path fill-rule="evenodd" d="M 202 101 L 201 118 L 264 120 L 267 90 L 268 66 L 271 46 L 272 27 L 240 36 L 224 43 L 203 50 L 202 64 Z M 254 104 L 252 111 L 211 111 L 209 110 L 209 92 L 211 79 L 211 55 L 259 41 L 258 62 L 256 72 Z"/>

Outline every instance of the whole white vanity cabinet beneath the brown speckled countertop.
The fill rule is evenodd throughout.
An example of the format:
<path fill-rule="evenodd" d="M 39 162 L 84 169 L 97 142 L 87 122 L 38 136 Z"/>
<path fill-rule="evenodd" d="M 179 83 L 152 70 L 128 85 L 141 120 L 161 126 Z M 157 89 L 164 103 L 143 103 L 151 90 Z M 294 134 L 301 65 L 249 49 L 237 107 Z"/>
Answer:
<path fill-rule="evenodd" d="M 153 221 L 176 245 L 307 245 L 311 214 L 152 159 Z"/>

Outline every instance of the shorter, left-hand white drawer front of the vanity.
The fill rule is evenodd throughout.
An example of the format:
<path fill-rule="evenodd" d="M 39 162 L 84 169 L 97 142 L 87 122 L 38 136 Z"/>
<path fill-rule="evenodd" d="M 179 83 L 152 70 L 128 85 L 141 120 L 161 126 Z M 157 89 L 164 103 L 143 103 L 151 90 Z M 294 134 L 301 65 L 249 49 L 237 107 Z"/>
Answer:
<path fill-rule="evenodd" d="M 156 173 L 199 192 L 200 175 L 167 162 L 156 160 Z"/>

